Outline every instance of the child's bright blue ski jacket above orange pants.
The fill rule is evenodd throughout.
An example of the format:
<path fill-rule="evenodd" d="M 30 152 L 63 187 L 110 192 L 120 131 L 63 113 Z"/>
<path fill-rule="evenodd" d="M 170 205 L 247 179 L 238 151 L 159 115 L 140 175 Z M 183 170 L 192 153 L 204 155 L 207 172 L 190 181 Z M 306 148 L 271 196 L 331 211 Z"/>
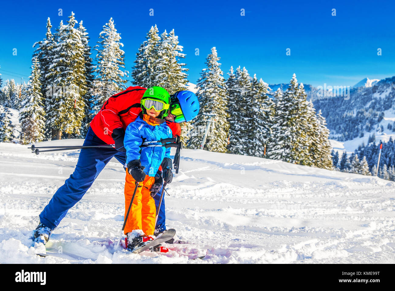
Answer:
<path fill-rule="evenodd" d="M 140 147 L 144 141 L 158 141 L 172 137 L 171 129 L 166 122 L 150 125 L 140 116 L 126 127 L 124 146 L 126 149 L 126 164 L 132 160 L 140 160 L 144 171 L 150 177 L 155 177 L 164 158 L 170 158 L 170 148 L 164 146 Z"/>

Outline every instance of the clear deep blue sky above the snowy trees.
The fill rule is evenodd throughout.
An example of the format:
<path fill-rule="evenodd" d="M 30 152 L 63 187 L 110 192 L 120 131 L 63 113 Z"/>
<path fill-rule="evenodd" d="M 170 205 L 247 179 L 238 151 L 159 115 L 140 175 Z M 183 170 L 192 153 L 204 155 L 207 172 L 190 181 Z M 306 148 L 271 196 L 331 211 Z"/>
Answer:
<path fill-rule="evenodd" d="M 59 8 L 63 16 L 58 16 Z M 149 16 L 150 8 L 154 16 Z M 331 15 L 333 8 L 336 16 Z M 241 9 L 245 16 L 240 15 Z M 269 84 L 287 83 L 293 73 L 299 82 L 313 86 L 352 86 L 365 77 L 395 75 L 392 1 L 4 1 L 0 10 L 3 82 L 27 79 L 32 45 L 44 38 L 47 17 L 54 32 L 71 11 L 77 21 L 83 20 L 91 46 L 113 17 L 129 71 L 147 31 L 156 24 L 160 33 L 175 29 L 192 83 L 197 82 L 213 46 L 224 75 L 230 66 L 240 65 Z"/>

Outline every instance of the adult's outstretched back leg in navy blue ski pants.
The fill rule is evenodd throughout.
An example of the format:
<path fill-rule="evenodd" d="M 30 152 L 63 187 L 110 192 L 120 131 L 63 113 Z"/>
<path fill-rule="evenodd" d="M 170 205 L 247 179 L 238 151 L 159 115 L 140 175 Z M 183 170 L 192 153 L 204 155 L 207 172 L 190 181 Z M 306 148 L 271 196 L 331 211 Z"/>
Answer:
<path fill-rule="evenodd" d="M 89 128 L 84 146 L 104 145 Z M 73 207 L 92 185 L 111 158 L 117 154 L 112 148 L 83 148 L 79 154 L 74 172 L 53 195 L 51 201 L 40 213 L 40 222 L 52 230 L 58 226 L 67 211 Z"/>

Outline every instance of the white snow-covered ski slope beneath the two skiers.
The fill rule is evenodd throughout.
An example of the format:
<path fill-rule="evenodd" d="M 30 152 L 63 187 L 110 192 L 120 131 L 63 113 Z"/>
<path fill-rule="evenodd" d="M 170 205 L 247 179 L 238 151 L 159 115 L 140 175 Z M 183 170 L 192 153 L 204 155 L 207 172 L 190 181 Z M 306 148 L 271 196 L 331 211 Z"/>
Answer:
<path fill-rule="evenodd" d="M 82 145 L 83 140 L 41 145 Z M 119 249 L 124 170 L 113 159 L 47 245 L 29 236 L 73 172 L 78 150 L 32 154 L 0 143 L 0 263 L 393 263 L 395 183 L 285 162 L 181 151 L 166 196 L 169 253 Z M 204 259 L 196 259 L 205 256 Z"/>

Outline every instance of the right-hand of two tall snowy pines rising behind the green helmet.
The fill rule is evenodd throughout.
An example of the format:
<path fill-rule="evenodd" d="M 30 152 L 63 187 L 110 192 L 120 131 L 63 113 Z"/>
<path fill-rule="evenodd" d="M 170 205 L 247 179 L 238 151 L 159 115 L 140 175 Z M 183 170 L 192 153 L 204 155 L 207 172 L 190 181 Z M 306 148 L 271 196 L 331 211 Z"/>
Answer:
<path fill-rule="evenodd" d="M 187 68 L 184 63 L 179 63 L 180 59 L 185 58 L 182 52 L 182 46 L 179 45 L 178 36 L 175 35 L 174 29 L 167 34 L 166 30 L 160 35 L 158 45 L 158 59 L 154 64 L 155 67 L 155 84 L 164 87 L 172 94 L 179 90 L 186 89 Z"/>

